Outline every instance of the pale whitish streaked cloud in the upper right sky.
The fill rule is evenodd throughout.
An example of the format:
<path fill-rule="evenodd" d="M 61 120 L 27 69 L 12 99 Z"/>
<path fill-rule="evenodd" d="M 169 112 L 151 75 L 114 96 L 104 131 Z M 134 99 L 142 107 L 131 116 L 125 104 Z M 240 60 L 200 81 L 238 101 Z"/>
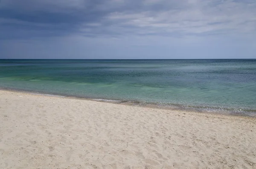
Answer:
<path fill-rule="evenodd" d="M 146 0 L 146 4 L 159 3 Z M 162 0 L 161 2 L 166 2 Z M 166 4 L 168 5 L 168 4 Z M 179 32 L 181 34 L 255 34 L 256 2 L 181 0 L 181 9 L 139 11 L 137 13 L 114 12 L 107 19 L 116 26 L 141 28 L 141 31 L 159 33 Z"/>

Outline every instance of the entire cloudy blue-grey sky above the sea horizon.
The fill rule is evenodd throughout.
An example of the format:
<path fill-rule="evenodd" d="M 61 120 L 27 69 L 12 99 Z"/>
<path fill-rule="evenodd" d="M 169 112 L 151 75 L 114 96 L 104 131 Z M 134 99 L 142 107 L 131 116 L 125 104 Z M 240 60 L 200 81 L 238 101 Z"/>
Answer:
<path fill-rule="evenodd" d="M 0 0 L 0 59 L 256 59 L 256 0 Z"/>

